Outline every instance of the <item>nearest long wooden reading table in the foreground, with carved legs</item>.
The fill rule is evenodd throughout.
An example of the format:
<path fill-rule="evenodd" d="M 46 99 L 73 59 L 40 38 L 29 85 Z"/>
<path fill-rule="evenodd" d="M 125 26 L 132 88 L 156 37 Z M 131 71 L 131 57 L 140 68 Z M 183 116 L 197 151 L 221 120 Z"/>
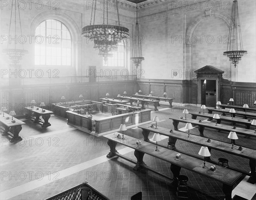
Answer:
<path fill-rule="evenodd" d="M 171 171 L 173 173 L 174 180 L 177 180 L 177 176 L 180 174 L 180 169 L 185 168 L 189 171 L 223 183 L 223 192 L 226 199 L 231 199 L 233 184 L 242 175 L 237 171 L 233 171 L 229 168 L 224 168 L 218 165 L 216 166 L 215 171 L 210 171 L 209 168 L 202 168 L 202 165 L 204 163 L 201 159 L 190 157 L 184 154 L 181 155 L 179 159 L 176 159 L 176 154 L 178 153 L 177 151 L 173 151 L 163 147 L 158 148 L 159 151 L 154 151 L 154 149 L 156 148 L 156 145 L 154 144 L 151 144 L 149 142 L 143 142 L 142 145 L 137 145 L 136 142 L 138 139 L 126 135 L 124 136 L 125 139 L 121 139 L 116 137 L 117 135 L 118 133 L 111 133 L 103 136 L 108 139 L 108 145 L 110 147 L 110 152 L 107 157 L 110 158 L 113 156 L 118 156 L 118 152 L 116 151 L 117 143 L 133 148 L 135 150 L 134 155 L 137 158 L 137 164 L 134 167 L 135 171 L 140 170 L 141 168 L 144 168 L 146 166 L 143 161 L 143 156 L 144 154 L 148 154 L 165 162 L 171 163 Z M 210 163 L 206 162 L 206 165 L 209 166 Z M 175 184 L 177 183 L 175 182 Z"/>

